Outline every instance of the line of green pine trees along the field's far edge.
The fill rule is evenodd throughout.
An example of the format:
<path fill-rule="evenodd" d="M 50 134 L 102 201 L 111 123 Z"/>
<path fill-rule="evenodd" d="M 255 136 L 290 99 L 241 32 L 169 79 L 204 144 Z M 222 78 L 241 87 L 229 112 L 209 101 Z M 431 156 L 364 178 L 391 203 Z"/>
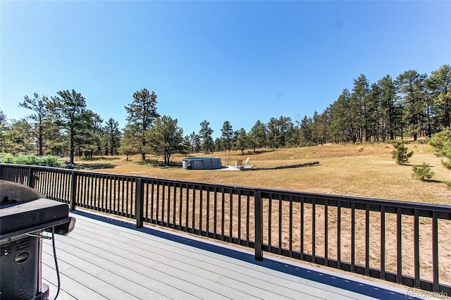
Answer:
<path fill-rule="evenodd" d="M 234 130 L 226 120 L 216 139 L 208 120 L 199 123 L 199 132 L 184 136 L 177 119 L 159 115 L 157 95 L 147 89 L 135 92 L 125 106 L 122 129 L 113 118 L 104 121 L 89 110 L 74 90 L 51 97 L 35 93 L 19 103 L 31 111 L 25 118 L 8 122 L 0 111 L 0 152 L 69 155 L 70 163 L 74 156 L 141 154 L 145 161 L 147 154 L 156 154 L 169 164 L 175 153 L 416 140 L 451 127 L 450 87 L 450 65 L 430 75 L 408 70 L 373 83 L 361 74 L 322 113 L 294 122 L 283 115 L 267 123 L 257 120 L 248 131 Z"/>

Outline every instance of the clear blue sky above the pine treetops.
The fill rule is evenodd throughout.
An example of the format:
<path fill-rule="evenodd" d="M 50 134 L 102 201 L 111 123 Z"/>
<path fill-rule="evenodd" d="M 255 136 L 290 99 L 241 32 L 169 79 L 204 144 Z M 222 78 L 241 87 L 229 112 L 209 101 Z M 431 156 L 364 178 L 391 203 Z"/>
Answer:
<path fill-rule="evenodd" d="M 323 112 L 376 82 L 451 63 L 451 1 L 0 1 L 0 106 L 75 89 L 125 126 L 147 88 L 184 135 Z"/>

